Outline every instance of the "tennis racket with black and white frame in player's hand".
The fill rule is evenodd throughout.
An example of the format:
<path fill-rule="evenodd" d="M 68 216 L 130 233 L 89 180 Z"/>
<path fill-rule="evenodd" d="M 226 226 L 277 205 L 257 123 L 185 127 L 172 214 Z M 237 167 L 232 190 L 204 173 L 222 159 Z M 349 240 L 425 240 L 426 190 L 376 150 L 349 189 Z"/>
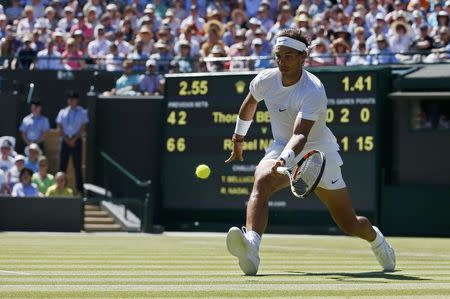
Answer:
<path fill-rule="evenodd" d="M 324 169 L 325 155 L 320 151 L 312 150 L 294 167 L 277 167 L 277 172 L 288 176 L 292 194 L 304 199 L 317 187 Z"/>

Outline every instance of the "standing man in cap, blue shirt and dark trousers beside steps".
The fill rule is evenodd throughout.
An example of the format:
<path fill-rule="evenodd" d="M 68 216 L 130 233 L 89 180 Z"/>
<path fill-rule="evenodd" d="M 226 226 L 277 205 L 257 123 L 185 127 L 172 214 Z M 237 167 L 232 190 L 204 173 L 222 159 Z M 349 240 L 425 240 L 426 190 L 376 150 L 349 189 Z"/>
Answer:
<path fill-rule="evenodd" d="M 76 186 L 79 192 L 83 191 L 83 176 L 81 172 L 82 161 L 82 134 L 88 123 L 87 111 L 78 106 L 79 95 L 74 91 L 67 94 L 67 107 L 59 111 L 56 124 L 61 136 L 59 153 L 59 170 L 67 171 L 69 158 L 72 156 L 75 169 Z"/>

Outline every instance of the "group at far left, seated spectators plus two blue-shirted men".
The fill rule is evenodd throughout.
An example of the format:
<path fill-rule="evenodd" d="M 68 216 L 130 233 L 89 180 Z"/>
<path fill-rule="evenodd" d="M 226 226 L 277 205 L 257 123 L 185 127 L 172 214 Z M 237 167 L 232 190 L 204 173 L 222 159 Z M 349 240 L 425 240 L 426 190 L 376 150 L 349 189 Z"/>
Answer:
<path fill-rule="evenodd" d="M 69 91 L 67 106 L 56 118 L 61 136 L 59 172 L 48 172 L 49 161 L 45 156 L 45 139 L 50 130 L 49 120 L 42 114 L 42 104 L 31 103 L 31 113 L 25 116 L 19 127 L 25 144 L 24 155 L 15 150 L 16 139 L 0 137 L 0 195 L 12 196 L 72 196 L 83 192 L 81 173 L 82 135 L 88 122 L 87 111 L 78 106 L 79 96 Z M 69 158 L 73 158 L 76 189 L 68 187 L 65 172 Z M 75 192 L 74 192 L 75 191 Z"/>

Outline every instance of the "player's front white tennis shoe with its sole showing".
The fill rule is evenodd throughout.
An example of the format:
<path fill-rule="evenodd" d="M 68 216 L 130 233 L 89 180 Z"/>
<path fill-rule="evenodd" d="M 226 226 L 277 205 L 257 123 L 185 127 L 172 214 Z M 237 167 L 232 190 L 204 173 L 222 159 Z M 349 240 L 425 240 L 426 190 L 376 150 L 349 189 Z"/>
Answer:
<path fill-rule="evenodd" d="M 259 254 L 256 246 L 245 237 L 246 229 L 232 227 L 227 235 L 228 251 L 239 259 L 239 266 L 245 275 L 256 275 L 259 267 Z"/>

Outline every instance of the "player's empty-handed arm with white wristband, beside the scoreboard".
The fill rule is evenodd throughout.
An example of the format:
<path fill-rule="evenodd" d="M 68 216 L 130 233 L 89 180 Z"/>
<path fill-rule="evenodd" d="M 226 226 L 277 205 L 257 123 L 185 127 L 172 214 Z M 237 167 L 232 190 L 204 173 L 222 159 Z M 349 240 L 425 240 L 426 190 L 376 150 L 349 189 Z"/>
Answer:
<path fill-rule="evenodd" d="M 225 163 L 233 162 L 236 159 L 239 159 L 239 161 L 243 161 L 243 143 L 244 143 L 244 137 L 245 133 L 242 133 L 240 129 L 238 128 L 240 124 L 248 124 L 250 126 L 250 123 L 253 116 L 256 112 L 256 107 L 258 106 L 258 101 L 255 100 L 255 98 L 252 96 L 252 94 L 249 92 L 247 94 L 247 97 L 245 98 L 244 102 L 242 102 L 241 108 L 239 109 L 239 116 L 237 120 L 236 130 L 233 134 L 232 140 L 233 140 L 233 151 L 231 152 L 230 157 L 225 161 Z M 248 129 L 248 128 L 247 128 Z M 246 131 L 244 129 L 244 131 Z M 241 133 L 241 134 L 239 134 Z"/>

